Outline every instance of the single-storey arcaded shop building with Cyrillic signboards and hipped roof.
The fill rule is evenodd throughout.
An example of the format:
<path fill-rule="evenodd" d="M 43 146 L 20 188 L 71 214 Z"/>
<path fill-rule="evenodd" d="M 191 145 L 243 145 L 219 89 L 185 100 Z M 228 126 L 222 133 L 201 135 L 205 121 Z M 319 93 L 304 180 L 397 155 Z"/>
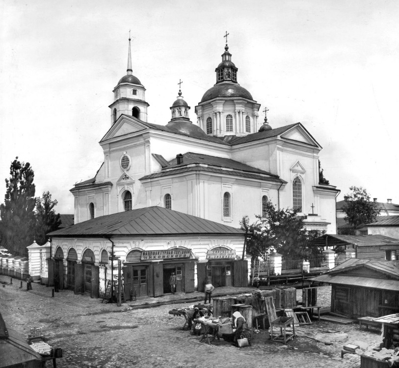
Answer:
<path fill-rule="evenodd" d="M 116 278 L 118 260 L 127 298 L 171 292 L 172 272 L 177 292 L 202 290 L 206 277 L 215 287 L 248 284 L 244 231 L 162 207 L 97 217 L 49 236 L 49 285 L 94 298 Z"/>

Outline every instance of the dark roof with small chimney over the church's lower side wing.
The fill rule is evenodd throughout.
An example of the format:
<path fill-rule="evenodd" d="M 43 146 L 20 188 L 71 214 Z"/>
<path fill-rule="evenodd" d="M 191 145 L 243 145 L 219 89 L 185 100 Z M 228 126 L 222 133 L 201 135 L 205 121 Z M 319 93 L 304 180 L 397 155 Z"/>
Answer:
<path fill-rule="evenodd" d="M 160 173 L 146 175 L 140 178 L 140 180 L 160 178 L 163 176 L 192 171 L 208 171 L 223 175 L 234 175 L 278 183 L 286 183 L 284 180 L 280 179 L 278 175 L 271 174 L 265 170 L 249 166 L 245 163 L 232 160 L 230 158 L 215 157 L 193 152 L 185 153 L 181 163 L 177 163 L 177 158 L 173 158 L 168 161 L 167 166 L 162 167 Z"/>

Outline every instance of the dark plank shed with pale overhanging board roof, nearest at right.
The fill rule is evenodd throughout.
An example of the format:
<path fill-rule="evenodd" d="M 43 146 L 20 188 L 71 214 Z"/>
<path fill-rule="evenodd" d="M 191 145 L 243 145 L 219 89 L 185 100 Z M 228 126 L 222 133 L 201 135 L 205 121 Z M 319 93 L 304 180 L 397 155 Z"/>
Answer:
<path fill-rule="evenodd" d="M 397 261 L 352 258 L 310 280 L 332 285 L 332 313 L 359 318 L 399 312 Z"/>

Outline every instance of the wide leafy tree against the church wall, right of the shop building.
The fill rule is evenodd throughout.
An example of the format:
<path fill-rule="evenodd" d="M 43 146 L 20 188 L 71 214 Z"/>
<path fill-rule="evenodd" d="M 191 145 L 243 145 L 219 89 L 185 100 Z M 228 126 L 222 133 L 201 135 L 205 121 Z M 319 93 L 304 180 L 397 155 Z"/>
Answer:
<path fill-rule="evenodd" d="M 311 250 L 307 247 L 308 237 L 303 217 L 297 216 L 298 210 L 276 210 L 271 202 L 266 204 L 266 217 L 256 216 L 257 220 L 249 225 L 248 217 L 240 221 L 241 228 L 252 233 L 246 239 L 247 253 L 252 257 L 265 257 L 276 251 L 292 258 L 308 258 Z"/>

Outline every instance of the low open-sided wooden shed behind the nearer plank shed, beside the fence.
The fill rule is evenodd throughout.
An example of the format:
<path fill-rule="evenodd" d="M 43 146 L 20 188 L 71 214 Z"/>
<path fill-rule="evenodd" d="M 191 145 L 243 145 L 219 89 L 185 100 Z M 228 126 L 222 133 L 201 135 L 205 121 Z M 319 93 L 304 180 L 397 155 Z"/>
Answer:
<path fill-rule="evenodd" d="M 384 235 L 324 234 L 313 239 L 312 245 L 332 248 L 334 251 L 353 248 L 358 259 L 391 261 L 399 255 L 399 239 Z"/>

